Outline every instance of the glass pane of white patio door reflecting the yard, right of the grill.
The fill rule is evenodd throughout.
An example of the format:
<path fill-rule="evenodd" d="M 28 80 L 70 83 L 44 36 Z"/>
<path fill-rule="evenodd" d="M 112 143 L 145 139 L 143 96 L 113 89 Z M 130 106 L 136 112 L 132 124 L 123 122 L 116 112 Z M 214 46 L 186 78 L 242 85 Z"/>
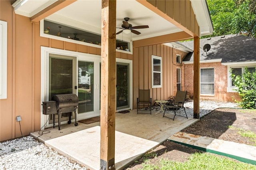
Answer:
<path fill-rule="evenodd" d="M 78 114 L 94 111 L 94 63 L 78 61 Z"/>

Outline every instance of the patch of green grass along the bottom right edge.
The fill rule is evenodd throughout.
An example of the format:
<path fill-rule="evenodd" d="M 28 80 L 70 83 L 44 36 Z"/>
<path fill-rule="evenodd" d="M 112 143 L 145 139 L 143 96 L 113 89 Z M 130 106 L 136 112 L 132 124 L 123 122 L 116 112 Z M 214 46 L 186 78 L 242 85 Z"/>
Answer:
<path fill-rule="evenodd" d="M 237 162 L 210 153 L 191 154 L 188 161 L 177 162 L 161 158 L 156 164 L 142 164 L 141 170 L 256 170 L 256 165 Z"/>

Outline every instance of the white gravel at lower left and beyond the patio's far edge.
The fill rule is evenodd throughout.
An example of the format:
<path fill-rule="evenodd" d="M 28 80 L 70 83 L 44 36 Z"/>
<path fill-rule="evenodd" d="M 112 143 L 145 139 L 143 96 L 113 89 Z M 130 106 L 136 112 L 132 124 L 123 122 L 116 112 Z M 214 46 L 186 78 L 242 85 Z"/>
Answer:
<path fill-rule="evenodd" d="M 193 117 L 193 101 L 184 104 Z M 200 101 L 200 117 L 220 107 L 237 107 L 236 103 Z M 160 106 L 153 106 L 158 111 Z M 180 109 L 178 114 L 184 114 Z M 0 170 L 86 170 L 85 167 L 38 142 L 32 136 L 0 142 Z"/>

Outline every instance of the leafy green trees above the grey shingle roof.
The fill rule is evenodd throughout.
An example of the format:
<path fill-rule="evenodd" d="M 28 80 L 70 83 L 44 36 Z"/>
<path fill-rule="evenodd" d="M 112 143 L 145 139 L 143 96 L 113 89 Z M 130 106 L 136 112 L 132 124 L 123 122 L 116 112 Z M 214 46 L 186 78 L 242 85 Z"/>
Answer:
<path fill-rule="evenodd" d="M 243 34 L 256 38 L 255 0 L 207 0 L 214 32 L 202 38 Z"/>

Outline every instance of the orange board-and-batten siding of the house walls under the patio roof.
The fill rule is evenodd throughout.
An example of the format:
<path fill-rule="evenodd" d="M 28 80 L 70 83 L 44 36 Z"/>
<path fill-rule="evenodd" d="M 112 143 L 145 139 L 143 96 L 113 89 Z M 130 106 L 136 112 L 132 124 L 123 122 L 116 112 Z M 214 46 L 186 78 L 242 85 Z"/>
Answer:
<path fill-rule="evenodd" d="M 39 22 L 14 14 L 12 1 L 0 1 L 0 20 L 7 27 L 7 99 L 0 100 L 0 141 L 20 137 L 16 116 L 21 116 L 22 134 L 40 130 L 41 119 L 41 46 L 101 55 L 101 49 L 40 37 Z M 184 32 L 179 34 L 186 38 Z M 159 39 L 158 39 L 159 40 Z M 170 39 L 169 39 L 170 41 Z M 143 40 L 145 44 L 147 40 Z M 151 89 L 150 96 L 168 99 L 174 94 L 172 57 L 176 54 L 164 45 L 135 47 L 132 54 L 116 52 L 117 58 L 133 60 L 133 108 L 136 109 L 138 89 Z M 162 57 L 162 88 L 151 88 L 151 55 Z M 175 73 L 174 73 L 175 75 Z"/>

